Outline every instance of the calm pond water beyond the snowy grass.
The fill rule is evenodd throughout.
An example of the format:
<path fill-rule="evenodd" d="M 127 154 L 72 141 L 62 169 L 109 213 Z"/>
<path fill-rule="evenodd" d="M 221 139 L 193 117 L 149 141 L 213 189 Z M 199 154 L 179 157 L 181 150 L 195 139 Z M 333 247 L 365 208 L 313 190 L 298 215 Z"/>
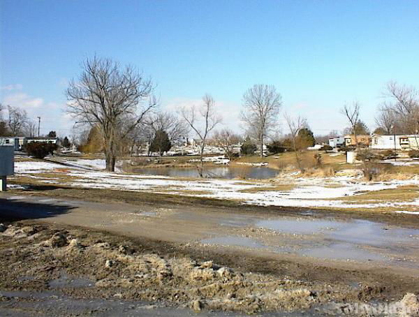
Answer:
<path fill-rule="evenodd" d="M 196 168 L 135 168 L 136 174 L 162 175 L 171 177 L 199 177 Z M 276 177 L 278 170 L 266 167 L 214 167 L 205 168 L 204 174 L 208 177 L 219 177 L 224 179 L 251 178 L 267 179 Z"/>

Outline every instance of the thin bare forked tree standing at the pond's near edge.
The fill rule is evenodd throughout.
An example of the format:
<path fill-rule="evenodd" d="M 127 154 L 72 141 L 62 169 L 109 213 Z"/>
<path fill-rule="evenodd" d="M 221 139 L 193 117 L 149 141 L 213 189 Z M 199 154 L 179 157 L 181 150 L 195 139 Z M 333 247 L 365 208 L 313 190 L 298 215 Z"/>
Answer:
<path fill-rule="evenodd" d="M 198 107 L 193 105 L 191 107 L 181 108 L 180 113 L 200 139 L 200 165 L 198 167 L 198 173 L 200 177 L 203 177 L 203 156 L 205 145 L 207 145 L 207 138 L 216 125 L 221 123 L 221 117 L 216 112 L 214 98 L 209 94 L 203 96 L 203 104 Z"/>

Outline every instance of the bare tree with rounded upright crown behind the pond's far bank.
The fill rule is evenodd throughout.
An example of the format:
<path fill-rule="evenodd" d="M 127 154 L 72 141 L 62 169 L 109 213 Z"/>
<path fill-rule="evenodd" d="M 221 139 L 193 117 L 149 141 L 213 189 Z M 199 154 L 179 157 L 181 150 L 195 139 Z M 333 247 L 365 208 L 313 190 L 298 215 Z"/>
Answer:
<path fill-rule="evenodd" d="M 258 140 L 260 157 L 265 138 L 277 128 L 281 105 L 281 94 L 271 85 L 255 84 L 243 95 L 241 119 L 247 124 L 247 133 Z"/>

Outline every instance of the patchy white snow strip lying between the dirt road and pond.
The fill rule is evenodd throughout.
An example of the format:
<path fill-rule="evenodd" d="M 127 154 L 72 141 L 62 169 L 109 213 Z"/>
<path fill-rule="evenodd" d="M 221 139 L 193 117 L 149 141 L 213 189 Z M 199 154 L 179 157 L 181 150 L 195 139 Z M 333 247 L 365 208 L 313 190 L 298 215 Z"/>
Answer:
<path fill-rule="evenodd" d="M 77 163 L 80 163 L 80 161 L 83 160 L 76 160 Z M 101 164 L 99 162 L 101 160 L 84 161 L 96 161 L 96 166 L 100 166 Z M 81 163 L 83 164 L 84 162 Z M 33 177 L 30 174 L 34 173 L 45 171 L 54 172 L 57 168 L 61 169 L 62 175 L 63 165 L 38 161 L 15 163 L 16 174 L 29 177 Z M 66 173 L 75 178 L 68 180 L 68 182 L 71 182 L 71 186 L 123 191 L 174 193 L 186 196 L 240 200 L 252 205 L 340 208 L 419 206 L 419 199 L 413 202 L 372 202 L 362 204 L 336 200 L 336 198 L 356 196 L 367 191 L 396 189 L 398 186 L 403 185 L 419 185 L 419 179 L 393 180 L 390 182 L 361 182 L 359 179 L 348 176 L 328 178 L 301 177 L 298 179 L 283 177 L 277 179 L 276 182 L 246 182 L 233 179 L 189 180 L 158 175 L 128 175 L 118 172 L 82 170 L 80 168 L 66 168 Z M 49 177 L 41 180 L 41 182 L 58 184 L 60 180 Z M 289 191 L 263 191 L 263 189 L 278 184 L 290 184 L 293 185 L 293 189 Z M 260 189 L 260 191 L 246 192 L 249 189 Z"/>

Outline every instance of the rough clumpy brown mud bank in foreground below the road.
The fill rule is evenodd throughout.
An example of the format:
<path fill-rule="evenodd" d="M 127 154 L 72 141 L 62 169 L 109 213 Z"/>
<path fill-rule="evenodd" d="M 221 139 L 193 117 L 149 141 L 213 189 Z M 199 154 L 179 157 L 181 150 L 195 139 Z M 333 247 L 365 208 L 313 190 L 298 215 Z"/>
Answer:
<path fill-rule="evenodd" d="M 100 316 L 111 315 L 115 300 L 131 301 L 131 308 L 122 304 L 131 312 L 141 311 L 140 302 L 152 302 L 195 311 L 314 315 L 330 312 L 330 302 L 360 303 L 385 293 L 376 286 L 249 272 L 202 260 L 196 251 L 188 254 L 181 246 L 94 230 L 31 221 L 5 227 L 0 234 L 0 311 L 8 314 L 27 305 L 27 312 L 35 309 L 47 316 L 54 312 L 52 303 L 62 297 L 64 311 L 84 307 L 83 314 Z M 13 293 L 22 291 L 29 293 Z M 90 304 L 83 304 L 87 300 Z M 101 300 L 106 304 L 98 311 Z"/>

